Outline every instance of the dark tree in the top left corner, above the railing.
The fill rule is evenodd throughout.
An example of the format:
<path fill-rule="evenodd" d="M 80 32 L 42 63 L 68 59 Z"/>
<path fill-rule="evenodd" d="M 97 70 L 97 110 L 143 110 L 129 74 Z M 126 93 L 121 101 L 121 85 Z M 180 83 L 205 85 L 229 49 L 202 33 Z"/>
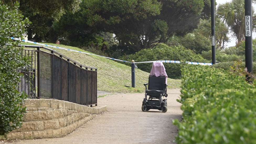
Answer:
<path fill-rule="evenodd" d="M 75 12 L 78 10 L 79 0 L 2 0 L 4 3 L 12 5 L 18 1 L 19 10 L 25 18 L 32 22 L 26 29 L 28 39 L 36 41 L 49 40 L 54 35 L 52 24 L 58 20 L 65 12 Z M 55 36 L 56 37 L 56 36 Z M 52 40 L 52 41 L 56 41 Z"/>

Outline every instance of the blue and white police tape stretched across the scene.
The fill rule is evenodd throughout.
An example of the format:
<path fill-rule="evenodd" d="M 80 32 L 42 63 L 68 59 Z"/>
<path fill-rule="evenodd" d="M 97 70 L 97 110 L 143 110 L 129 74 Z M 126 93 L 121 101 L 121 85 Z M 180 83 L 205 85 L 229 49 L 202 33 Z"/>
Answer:
<path fill-rule="evenodd" d="M 21 39 L 13 38 L 13 37 L 10 37 L 10 38 L 11 38 L 11 39 L 13 39 L 13 40 L 21 40 Z M 33 43 L 33 44 L 38 44 L 38 45 L 43 45 L 43 46 L 54 47 L 54 48 L 62 49 L 62 50 L 68 50 L 68 51 L 80 52 L 80 53 L 88 54 L 88 55 L 100 56 L 100 55 L 90 54 L 90 53 L 87 53 L 87 52 L 76 51 L 76 50 L 71 50 L 71 49 L 65 49 L 65 48 L 62 48 L 62 47 L 57 47 L 57 46 L 51 46 L 51 45 L 41 44 L 41 43 L 38 43 L 38 42 L 33 42 L 33 41 L 28 41 L 28 40 L 21 40 L 21 41 L 29 42 L 29 43 Z M 111 59 L 111 60 L 122 61 L 122 62 L 129 62 L 129 61 L 118 60 L 118 59 L 111 58 L 111 57 L 105 57 L 105 56 L 100 56 L 100 57 L 108 58 L 108 59 Z M 152 63 L 153 63 L 153 62 L 182 63 L 182 62 L 180 62 L 180 61 L 170 61 L 170 60 L 144 61 L 144 62 L 134 62 L 134 63 L 151 63 L 151 62 L 152 62 Z M 132 63 L 132 62 L 129 62 L 129 63 Z M 211 66 L 211 65 L 212 65 L 212 63 L 200 63 L 200 62 L 185 62 L 185 63 L 192 64 L 192 65 L 209 65 L 209 66 Z"/>

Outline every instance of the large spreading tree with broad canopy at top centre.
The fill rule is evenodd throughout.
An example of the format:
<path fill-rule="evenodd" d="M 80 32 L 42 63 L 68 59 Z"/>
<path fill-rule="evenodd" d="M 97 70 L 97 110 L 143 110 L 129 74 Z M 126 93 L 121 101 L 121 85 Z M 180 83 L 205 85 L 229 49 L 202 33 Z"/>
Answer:
<path fill-rule="evenodd" d="M 203 11 L 209 1 L 83 0 L 77 22 L 85 25 L 80 31 L 87 31 L 87 25 L 101 27 L 114 33 L 120 44 L 139 51 L 166 42 L 173 34 L 183 35 L 196 28 L 201 14 L 209 14 L 209 9 Z"/>

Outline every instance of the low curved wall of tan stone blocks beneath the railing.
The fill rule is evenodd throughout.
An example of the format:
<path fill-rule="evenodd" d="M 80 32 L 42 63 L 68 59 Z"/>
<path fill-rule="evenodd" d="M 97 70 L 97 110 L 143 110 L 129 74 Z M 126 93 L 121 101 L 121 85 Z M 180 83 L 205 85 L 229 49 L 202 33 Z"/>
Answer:
<path fill-rule="evenodd" d="M 94 116 L 106 111 L 106 106 L 85 106 L 55 99 L 26 99 L 22 127 L 0 138 L 56 138 L 70 134 Z"/>

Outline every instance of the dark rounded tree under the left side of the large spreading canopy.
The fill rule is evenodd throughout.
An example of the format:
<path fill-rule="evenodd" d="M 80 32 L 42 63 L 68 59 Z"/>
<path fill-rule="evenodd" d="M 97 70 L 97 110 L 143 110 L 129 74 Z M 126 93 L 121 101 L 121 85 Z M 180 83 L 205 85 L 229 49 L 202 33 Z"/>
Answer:
<path fill-rule="evenodd" d="M 62 40 L 62 44 L 78 47 L 90 45 L 91 42 L 99 44 L 102 38 L 98 34 L 104 31 L 101 26 L 89 26 L 81 10 L 63 14 L 58 21 L 54 22 L 54 30 Z"/>

